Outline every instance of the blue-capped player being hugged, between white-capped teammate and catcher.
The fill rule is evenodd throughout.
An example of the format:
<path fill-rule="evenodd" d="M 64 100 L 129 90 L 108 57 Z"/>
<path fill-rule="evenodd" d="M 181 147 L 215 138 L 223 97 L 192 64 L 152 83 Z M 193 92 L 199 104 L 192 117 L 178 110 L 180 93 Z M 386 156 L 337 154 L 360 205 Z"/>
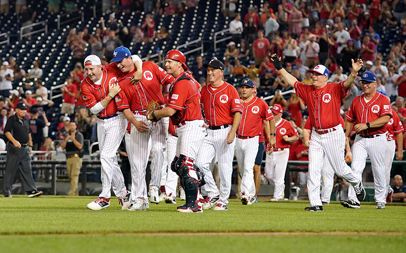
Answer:
<path fill-rule="evenodd" d="M 163 151 L 165 149 L 168 119 L 159 120 L 156 123 L 147 122 L 145 115 L 146 107 L 151 101 L 157 101 L 164 105 L 161 85 L 167 86 L 173 80 L 173 76 L 152 62 L 143 63 L 143 74 L 139 83 L 132 85 L 131 76 L 137 69 L 131 64 L 130 51 L 124 47 L 114 50 L 114 58 L 117 67 L 121 70 L 118 81 L 121 91 L 116 97 L 118 110 L 122 111 L 125 118 L 132 123 L 130 136 L 131 141 L 128 150 L 128 158 L 131 164 L 131 203 L 128 210 L 145 210 L 147 197 L 147 185 L 145 181 L 146 167 L 148 164 L 148 141 L 152 141 L 151 182 L 149 195 L 151 203 L 159 203 L 158 190 L 161 180 L 163 163 Z M 127 148 L 127 147 L 126 147 Z"/>

